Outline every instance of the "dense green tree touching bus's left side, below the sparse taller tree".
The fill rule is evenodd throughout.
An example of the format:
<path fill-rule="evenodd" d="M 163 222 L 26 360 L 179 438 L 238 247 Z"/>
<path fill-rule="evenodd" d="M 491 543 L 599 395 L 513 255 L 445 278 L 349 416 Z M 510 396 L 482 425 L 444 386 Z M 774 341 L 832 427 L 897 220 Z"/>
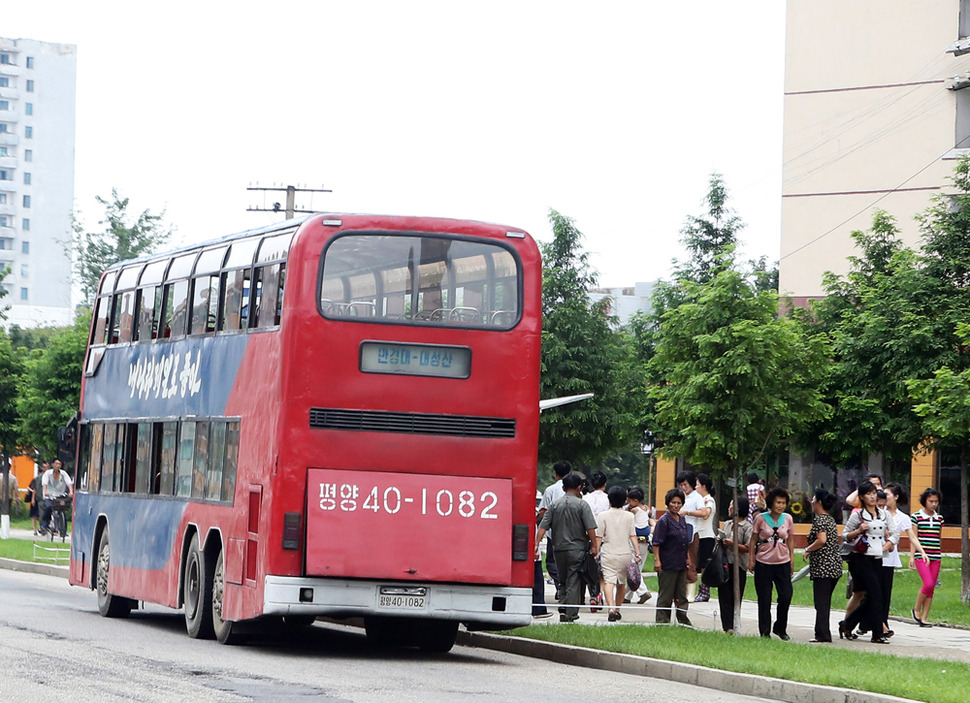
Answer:
<path fill-rule="evenodd" d="M 17 398 L 20 435 L 45 457 L 56 456 L 57 430 L 77 412 L 90 314 L 62 328 L 46 349 L 34 349 L 25 362 Z"/>

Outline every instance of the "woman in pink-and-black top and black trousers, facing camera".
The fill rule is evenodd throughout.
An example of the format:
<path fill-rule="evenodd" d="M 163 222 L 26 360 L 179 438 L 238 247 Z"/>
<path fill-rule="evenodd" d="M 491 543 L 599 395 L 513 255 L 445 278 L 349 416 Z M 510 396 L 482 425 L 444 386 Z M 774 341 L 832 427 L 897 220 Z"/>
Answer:
<path fill-rule="evenodd" d="M 758 631 L 762 637 L 774 632 L 783 640 L 788 636 L 788 608 L 791 606 L 791 577 L 795 573 L 792 554 L 792 525 L 794 520 L 785 510 L 788 508 L 788 491 L 772 488 L 765 503 L 767 513 L 754 519 L 751 534 L 749 569 L 754 572 L 754 589 L 758 594 Z M 771 626 L 771 589 L 778 592 L 778 613 L 774 627 Z"/>

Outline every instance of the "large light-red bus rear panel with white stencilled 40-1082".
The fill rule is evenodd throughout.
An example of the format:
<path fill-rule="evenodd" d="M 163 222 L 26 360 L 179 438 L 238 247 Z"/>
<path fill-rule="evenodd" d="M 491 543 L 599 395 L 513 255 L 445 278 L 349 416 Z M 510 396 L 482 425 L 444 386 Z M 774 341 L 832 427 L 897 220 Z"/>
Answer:
<path fill-rule="evenodd" d="M 307 479 L 309 575 L 511 578 L 509 479 L 338 469 L 310 469 Z"/>

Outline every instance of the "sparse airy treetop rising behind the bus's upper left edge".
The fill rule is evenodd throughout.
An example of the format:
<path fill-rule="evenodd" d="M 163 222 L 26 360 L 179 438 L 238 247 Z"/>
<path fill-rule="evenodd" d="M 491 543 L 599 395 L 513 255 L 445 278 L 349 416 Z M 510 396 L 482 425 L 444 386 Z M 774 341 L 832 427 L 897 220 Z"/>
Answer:
<path fill-rule="evenodd" d="M 81 294 L 88 306 L 93 305 L 101 274 L 111 264 L 151 254 L 168 241 L 171 229 L 163 223 L 165 212 L 152 214 L 143 210 L 137 215 L 128 212 L 128 198 L 111 189 L 111 200 L 97 196 L 104 207 L 104 226 L 101 232 L 89 232 L 78 214 L 74 216 L 74 273 L 81 286 Z"/>

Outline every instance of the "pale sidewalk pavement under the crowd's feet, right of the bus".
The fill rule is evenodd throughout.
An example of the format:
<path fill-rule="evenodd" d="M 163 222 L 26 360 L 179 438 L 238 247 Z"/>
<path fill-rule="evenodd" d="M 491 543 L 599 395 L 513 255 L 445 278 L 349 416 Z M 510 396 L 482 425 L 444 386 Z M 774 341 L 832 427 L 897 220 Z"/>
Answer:
<path fill-rule="evenodd" d="M 579 620 L 576 624 L 597 625 L 610 627 L 616 625 L 656 625 L 656 576 L 644 573 L 647 576 L 647 586 L 653 597 L 643 605 L 625 604 L 620 608 L 622 620 L 617 623 L 607 621 L 608 609 L 603 608 L 598 613 L 591 613 L 588 606 L 582 607 L 579 611 Z M 754 584 L 748 579 L 745 595 L 754 595 Z M 844 589 L 843 589 L 844 592 Z M 533 619 L 533 624 L 547 624 L 550 626 L 571 627 L 574 624 L 559 622 L 555 600 L 555 587 L 546 584 L 546 607 L 553 614 L 550 618 Z M 867 637 L 860 637 L 857 640 L 840 640 L 838 638 L 838 623 L 845 616 L 845 600 L 839 599 L 838 589 L 833 597 L 831 622 L 829 627 L 832 631 L 833 642 L 831 644 L 815 644 L 815 647 L 842 647 L 847 649 L 861 649 L 864 651 L 880 652 L 883 654 L 896 654 L 900 656 L 924 657 L 928 659 L 941 659 L 947 661 L 957 661 L 970 663 L 970 629 L 957 628 L 950 626 L 920 627 L 910 618 L 899 618 L 892 616 L 890 627 L 895 635 L 890 639 L 889 644 L 872 644 Z M 841 606 L 841 607 L 840 607 Z M 775 613 L 775 605 L 772 605 L 772 614 Z M 720 608 L 717 603 L 717 589 L 711 589 L 711 600 L 707 603 L 691 603 L 687 610 L 687 615 L 691 619 L 694 627 L 699 630 L 721 630 Z M 676 617 L 671 617 L 676 621 Z M 676 627 L 677 625 L 661 625 L 658 627 Z M 744 600 L 741 604 L 741 634 L 757 636 L 758 634 L 758 606 L 754 601 Z M 815 609 L 803 606 L 792 606 L 788 614 L 788 634 L 792 642 L 807 643 L 815 637 Z M 774 638 L 776 639 L 777 638 Z M 784 643 L 777 640 L 779 646 Z"/>

